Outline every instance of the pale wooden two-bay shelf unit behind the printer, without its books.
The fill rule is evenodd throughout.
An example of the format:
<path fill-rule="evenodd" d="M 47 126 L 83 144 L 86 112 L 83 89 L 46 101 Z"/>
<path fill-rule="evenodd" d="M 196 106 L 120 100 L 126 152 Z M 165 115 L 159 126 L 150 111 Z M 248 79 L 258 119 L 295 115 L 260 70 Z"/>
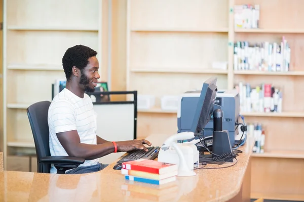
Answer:
<path fill-rule="evenodd" d="M 234 29 L 233 8 L 242 4 L 260 5 L 259 29 Z M 156 97 L 153 109 L 138 110 L 139 137 L 177 132 L 177 113 L 161 109 L 163 95 L 201 89 L 212 76 L 219 89 L 268 81 L 283 90 L 283 112 L 242 113 L 246 123 L 262 123 L 266 135 L 265 153 L 252 155 L 251 195 L 304 200 L 304 179 L 298 179 L 304 176 L 303 9 L 301 0 L 129 0 L 126 88 Z M 234 71 L 234 42 L 279 42 L 282 36 L 291 47 L 289 72 Z M 227 70 L 212 69 L 212 62 L 227 62 Z"/>

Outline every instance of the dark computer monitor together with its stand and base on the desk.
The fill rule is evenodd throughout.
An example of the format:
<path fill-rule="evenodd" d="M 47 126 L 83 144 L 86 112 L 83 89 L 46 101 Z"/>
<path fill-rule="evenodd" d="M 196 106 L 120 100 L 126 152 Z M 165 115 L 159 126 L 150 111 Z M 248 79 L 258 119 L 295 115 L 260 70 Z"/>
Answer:
<path fill-rule="evenodd" d="M 200 158 L 200 161 L 213 162 L 216 159 L 217 161 L 224 160 L 231 162 L 233 161 L 232 157 L 235 155 L 232 153 L 229 132 L 222 129 L 223 112 L 221 111 L 220 106 L 215 104 L 217 93 L 216 81 L 217 78 L 210 78 L 203 84 L 193 117 L 192 127 L 190 129 L 196 137 L 193 140 L 190 139 L 188 141 L 201 143 L 201 145 L 211 153 L 210 159 L 204 157 L 204 159 Z M 213 120 L 212 151 L 208 149 L 204 136 L 204 129 L 211 117 Z"/>

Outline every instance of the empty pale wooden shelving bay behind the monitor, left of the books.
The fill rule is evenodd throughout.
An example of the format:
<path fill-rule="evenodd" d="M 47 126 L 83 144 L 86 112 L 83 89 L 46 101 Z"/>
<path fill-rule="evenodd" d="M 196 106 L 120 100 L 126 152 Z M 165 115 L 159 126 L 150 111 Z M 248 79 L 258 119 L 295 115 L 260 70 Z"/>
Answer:
<path fill-rule="evenodd" d="M 212 69 L 228 61 L 228 1 L 135 0 L 127 8 L 127 89 L 157 98 L 154 109 L 139 110 L 138 134 L 176 133 L 176 112 L 161 110 L 162 95 L 201 89 L 210 76 L 228 85 L 228 70 Z"/>

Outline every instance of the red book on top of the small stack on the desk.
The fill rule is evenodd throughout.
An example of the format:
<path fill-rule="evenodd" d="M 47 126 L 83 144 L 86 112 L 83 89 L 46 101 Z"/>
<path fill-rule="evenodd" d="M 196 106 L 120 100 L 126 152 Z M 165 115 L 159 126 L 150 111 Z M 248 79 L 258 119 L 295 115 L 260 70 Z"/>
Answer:
<path fill-rule="evenodd" d="M 165 174 L 178 169 L 176 164 L 168 164 L 148 159 L 124 162 L 122 166 L 127 170 L 137 170 L 155 174 Z"/>

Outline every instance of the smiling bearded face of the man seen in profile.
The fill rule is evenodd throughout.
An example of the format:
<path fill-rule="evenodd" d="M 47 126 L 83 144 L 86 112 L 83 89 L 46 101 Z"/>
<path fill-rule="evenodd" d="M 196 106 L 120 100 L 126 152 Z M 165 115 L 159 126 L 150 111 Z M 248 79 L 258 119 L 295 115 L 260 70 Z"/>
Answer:
<path fill-rule="evenodd" d="M 100 78 L 98 74 L 99 63 L 96 57 L 89 58 L 88 66 L 81 70 L 81 77 L 79 84 L 87 92 L 94 92 L 97 85 L 97 79 Z"/>

